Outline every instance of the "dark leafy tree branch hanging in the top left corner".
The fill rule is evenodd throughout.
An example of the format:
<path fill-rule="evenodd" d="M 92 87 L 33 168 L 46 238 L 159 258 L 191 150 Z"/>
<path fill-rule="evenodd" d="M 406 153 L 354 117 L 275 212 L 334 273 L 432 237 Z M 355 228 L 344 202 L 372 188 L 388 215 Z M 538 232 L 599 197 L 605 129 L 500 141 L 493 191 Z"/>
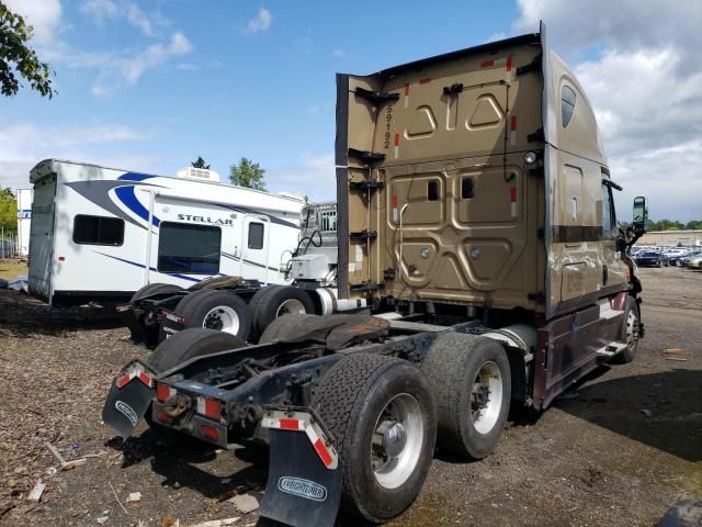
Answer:
<path fill-rule="evenodd" d="M 20 90 L 22 85 L 18 76 L 43 97 L 50 99 L 56 93 L 48 65 L 42 63 L 26 44 L 32 38 L 32 31 L 22 16 L 10 11 L 0 0 L 0 93 L 5 97 Z"/>

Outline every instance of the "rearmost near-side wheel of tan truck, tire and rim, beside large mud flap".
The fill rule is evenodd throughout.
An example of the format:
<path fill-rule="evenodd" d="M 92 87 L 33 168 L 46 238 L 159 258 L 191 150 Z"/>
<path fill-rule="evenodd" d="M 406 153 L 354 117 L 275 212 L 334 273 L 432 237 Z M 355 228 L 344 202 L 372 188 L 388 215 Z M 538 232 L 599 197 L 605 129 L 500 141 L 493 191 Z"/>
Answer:
<path fill-rule="evenodd" d="M 324 377 L 314 405 L 339 451 L 342 508 L 380 523 L 411 505 L 437 438 L 424 375 L 394 357 L 352 355 Z"/>

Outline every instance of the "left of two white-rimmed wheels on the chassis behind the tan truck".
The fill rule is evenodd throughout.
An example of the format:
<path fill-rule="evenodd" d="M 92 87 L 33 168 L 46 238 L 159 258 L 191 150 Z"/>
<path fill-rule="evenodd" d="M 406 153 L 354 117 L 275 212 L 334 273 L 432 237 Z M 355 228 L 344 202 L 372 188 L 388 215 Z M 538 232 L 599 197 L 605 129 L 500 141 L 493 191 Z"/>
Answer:
<path fill-rule="evenodd" d="M 251 313 L 246 302 L 231 291 L 190 293 L 176 306 L 176 315 L 185 319 L 185 328 L 217 329 L 245 340 L 251 330 Z"/>

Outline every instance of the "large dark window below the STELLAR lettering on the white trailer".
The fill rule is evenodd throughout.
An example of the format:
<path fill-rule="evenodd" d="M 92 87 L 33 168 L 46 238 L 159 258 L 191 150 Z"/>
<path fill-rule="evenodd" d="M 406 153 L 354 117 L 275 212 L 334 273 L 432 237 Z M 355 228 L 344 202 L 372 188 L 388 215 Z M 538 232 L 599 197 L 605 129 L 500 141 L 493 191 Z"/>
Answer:
<path fill-rule="evenodd" d="M 159 272 L 219 272 L 222 229 L 189 223 L 161 222 L 158 235 Z"/>

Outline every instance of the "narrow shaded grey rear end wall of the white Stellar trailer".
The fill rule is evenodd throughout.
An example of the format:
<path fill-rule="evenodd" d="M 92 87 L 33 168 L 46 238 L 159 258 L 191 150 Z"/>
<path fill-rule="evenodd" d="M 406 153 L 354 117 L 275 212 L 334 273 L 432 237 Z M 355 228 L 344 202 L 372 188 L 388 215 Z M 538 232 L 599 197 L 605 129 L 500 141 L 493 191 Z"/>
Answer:
<path fill-rule="evenodd" d="M 30 291 L 50 303 L 54 260 L 54 206 L 56 175 L 34 183 L 32 225 L 30 227 Z"/>

